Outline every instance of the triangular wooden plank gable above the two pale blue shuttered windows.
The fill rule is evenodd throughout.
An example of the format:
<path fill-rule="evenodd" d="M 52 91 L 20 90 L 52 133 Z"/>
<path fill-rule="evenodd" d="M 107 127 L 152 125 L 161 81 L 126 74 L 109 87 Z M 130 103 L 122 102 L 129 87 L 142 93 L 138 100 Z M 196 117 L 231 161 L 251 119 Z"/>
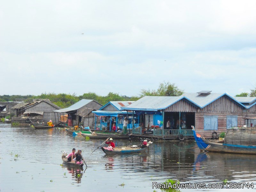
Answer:
<path fill-rule="evenodd" d="M 203 112 L 243 112 L 243 108 L 237 103 L 230 100 L 226 96 L 222 96 L 219 99 L 213 101 L 209 105 L 202 108 Z"/>

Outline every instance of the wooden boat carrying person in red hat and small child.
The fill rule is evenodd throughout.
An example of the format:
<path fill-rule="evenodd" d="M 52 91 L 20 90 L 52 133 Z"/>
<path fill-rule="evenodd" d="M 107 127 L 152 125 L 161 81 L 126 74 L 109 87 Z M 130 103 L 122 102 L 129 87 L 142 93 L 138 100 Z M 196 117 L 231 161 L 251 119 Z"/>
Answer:
<path fill-rule="evenodd" d="M 123 147 L 115 147 L 115 150 L 110 151 L 108 149 L 105 149 L 103 147 L 101 147 L 102 151 L 106 154 L 127 154 L 127 153 L 142 153 L 145 152 L 146 149 L 148 148 L 148 146 L 153 143 L 153 142 L 148 142 L 147 147 L 146 148 L 141 148 L 141 147 L 135 147 L 132 148 L 131 146 L 123 146 Z"/>

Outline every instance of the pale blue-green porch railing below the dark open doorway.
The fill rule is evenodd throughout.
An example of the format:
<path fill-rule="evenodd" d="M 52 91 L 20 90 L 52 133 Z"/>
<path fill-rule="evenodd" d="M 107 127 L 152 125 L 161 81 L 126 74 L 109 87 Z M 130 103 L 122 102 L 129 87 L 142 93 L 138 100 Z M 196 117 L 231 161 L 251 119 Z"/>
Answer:
<path fill-rule="evenodd" d="M 178 135 L 184 135 L 184 136 L 193 136 L 192 129 L 155 129 L 153 131 L 154 136 L 178 136 Z"/>

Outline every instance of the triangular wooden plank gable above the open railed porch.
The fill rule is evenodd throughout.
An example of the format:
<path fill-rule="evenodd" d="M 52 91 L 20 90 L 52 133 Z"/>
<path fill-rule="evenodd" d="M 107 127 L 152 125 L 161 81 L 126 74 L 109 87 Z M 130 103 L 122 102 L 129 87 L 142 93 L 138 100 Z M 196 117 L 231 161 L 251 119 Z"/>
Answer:
<path fill-rule="evenodd" d="M 196 112 L 197 108 L 185 100 L 179 100 L 173 105 L 166 108 L 166 112 Z"/>

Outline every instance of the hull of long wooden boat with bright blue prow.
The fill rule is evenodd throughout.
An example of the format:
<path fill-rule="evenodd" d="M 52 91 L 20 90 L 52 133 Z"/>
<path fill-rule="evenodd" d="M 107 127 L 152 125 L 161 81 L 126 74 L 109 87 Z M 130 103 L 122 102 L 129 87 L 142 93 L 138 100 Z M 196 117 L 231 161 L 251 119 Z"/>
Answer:
<path fill-rule="evenodd" d="M 256 146 L 250 145 L 234 145 L 228 143 L 219 143 L 207 140 L 193 130 L 196 144 L 201 151 L 220 152 L 220 153 L 240 153 L 256 155 Z"/>

